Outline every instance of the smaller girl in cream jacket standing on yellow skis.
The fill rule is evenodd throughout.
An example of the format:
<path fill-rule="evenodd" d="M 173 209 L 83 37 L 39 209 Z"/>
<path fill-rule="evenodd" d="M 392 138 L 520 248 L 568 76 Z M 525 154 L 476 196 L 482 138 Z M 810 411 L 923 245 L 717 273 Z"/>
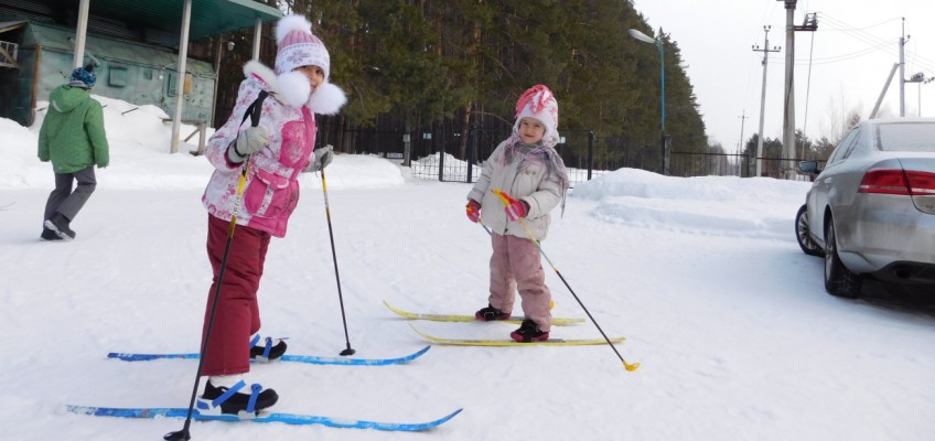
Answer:
<path fill-rule="evenodd" d="M 493 245 L 488 304 L 474 315 L 480 321 L 509 318 L 518 290 L 526 319 L 509 334 L 517 342 L 546 341 L 551 329 L 551 292 L 539 248 L 519 219 L 541 241 L 549 212 L 565 201 L 568 173 L 555 150 L 558 140 L 558 103 L 548 87 L 533 86 L 516 103 L 513 135 L 494 150 L 467 194 L 467 218 L 491 228 Z M 511 196 L 508 205 L 495 190 Z"/>

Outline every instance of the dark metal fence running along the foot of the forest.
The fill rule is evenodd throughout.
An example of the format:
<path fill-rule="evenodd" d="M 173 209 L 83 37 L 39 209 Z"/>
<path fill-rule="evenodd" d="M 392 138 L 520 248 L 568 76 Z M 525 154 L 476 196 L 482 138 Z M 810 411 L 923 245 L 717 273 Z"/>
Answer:
<path fill-rule="evenodd" d="M 501 142 L 509 137 L 511 128 L 472 128 L 467 139 L 462 133 L 442 126 L 432 132 L 415 132 L 407 137 L 401 131 L 347 129 L 322 125 L 320 142 L 342 146 L 345 153 L 375 154 L 404 163 L 408 146 L 409 166 L 413 178 L 443 182 L 476 182 L 484 161 Z M 589 181 L 603 173 L 622 168 L 662 172 L 662 151 L 657 146 L 634 146 L 620 137 L 599 140 L 591 130 L 562 130 L 556 150 L 568 168 L 569 182 Z M 798 159 L 760 158 L 762 175 L 784 178 L 786 170 Z M 469 165 L 470 164 L 470 165 Z M 739 176 L 755 175 L 756 161 L 751 155 L 723 152 L 671 151 L 669 175 Z M 807 178 L 799 176 L 800 180 Z"/>

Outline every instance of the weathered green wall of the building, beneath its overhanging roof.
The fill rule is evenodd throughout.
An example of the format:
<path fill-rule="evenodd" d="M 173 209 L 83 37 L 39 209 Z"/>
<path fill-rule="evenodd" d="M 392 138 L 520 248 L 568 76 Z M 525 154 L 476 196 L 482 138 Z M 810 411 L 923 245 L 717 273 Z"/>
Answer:
<path fill-rule="evenodd" d="M 0 117 L 30 126 L 36 103 L 49 99 L 52 89 L 68 82 L 74 69 L 75 30 L 12 20 L 0 22 L 0 31 L 4 31 L 0 32 L 0 41 L 7 47 L 15 45 L 17 54 L 15 63 L 7 60 L 0 69 Z M 138 105 L 151 104 L 172 115 L 179 98 L 175 82 L 180 80 L 174 51 L 88 34 L 83 64 L 95 65 L 95 94 Z M 211 121 L 214 66 L 189 58 L 185 71 L 182 119 Z"/>

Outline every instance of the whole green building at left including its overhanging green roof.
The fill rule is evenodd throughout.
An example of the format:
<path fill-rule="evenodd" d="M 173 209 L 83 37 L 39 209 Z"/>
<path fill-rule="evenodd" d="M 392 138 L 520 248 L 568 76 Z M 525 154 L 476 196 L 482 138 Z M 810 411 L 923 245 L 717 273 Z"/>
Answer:
<path fill-rule="evenodd" d="M 94 94 L 154 105 L 170 116 L 182 99 L 182 121 L 211 123 L 217 74 L 206 60 L 213 55 L 187 56 L 184 75 L 176 71 L 183 8 L 191 7 L 190 42 L 259 29 L 260 22 L 281 17 L 251 0 L 83 1 L 88 13 L 82 17 L 79 0 L 0 0 L 0 117 L 32 125 L 37 103 L 47 100 L 75 67 L 75 40 L 84 18 L 82 65 L 95 65 Z M 181 97 L 178 82 L 184 85 Z"/>

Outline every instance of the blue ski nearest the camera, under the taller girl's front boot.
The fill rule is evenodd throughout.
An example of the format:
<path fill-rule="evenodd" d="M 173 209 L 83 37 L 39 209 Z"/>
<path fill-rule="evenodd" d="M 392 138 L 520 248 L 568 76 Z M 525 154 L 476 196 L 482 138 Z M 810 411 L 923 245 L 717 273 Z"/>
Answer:
<path fill-rule="evenodd" d="M 120 417 L 120 418 L 181 418 L 189 416 L 186 408 L 164 407 L 140 407 L 140 408 L 115 408 L 92 406 L 66 406 L 72 413 L 89 415 L 94 417 Z M 454 418 L 463 409 L 458 409 L 442 418 L 427 422 L 380 422 L 366 420 L 352 420 L 345 418 L 330 418 L 315 415 L 297 413 L 260 413 L 252 419 L 240 419 L 236 415 L 202 415 L 197 410 L 192 411 L 194 420 L 219 420 L 219 421 L 252 421 L 252 422 L 283 422 L 287 424 L 322 424 L 344 429 L 376 429 L 399 432 L 419 432 L 441 426 Z"/>

